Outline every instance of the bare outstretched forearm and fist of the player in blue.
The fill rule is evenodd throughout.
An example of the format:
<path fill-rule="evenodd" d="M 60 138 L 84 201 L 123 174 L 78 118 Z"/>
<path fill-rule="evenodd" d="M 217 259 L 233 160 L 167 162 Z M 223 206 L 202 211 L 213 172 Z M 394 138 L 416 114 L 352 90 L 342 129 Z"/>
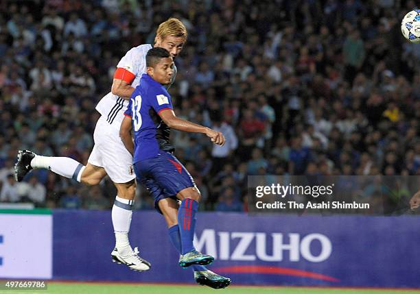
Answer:
<path fill-rule="evenodd" d="M 161 110 L 159 112 L 159 116 L 171 129 L 183 132 L 206 134 L 209 138 L 211 138 L 211 142 L 220 146 L 224 145 L 226 141 L 221 132 L 216 132 L 215 130 L 211 130 L 209 127 L 204 127 L 196 123 L 191 123 L 191 121 L 180 119 L 176 117 L 174 110 L 172 109 Z"/>

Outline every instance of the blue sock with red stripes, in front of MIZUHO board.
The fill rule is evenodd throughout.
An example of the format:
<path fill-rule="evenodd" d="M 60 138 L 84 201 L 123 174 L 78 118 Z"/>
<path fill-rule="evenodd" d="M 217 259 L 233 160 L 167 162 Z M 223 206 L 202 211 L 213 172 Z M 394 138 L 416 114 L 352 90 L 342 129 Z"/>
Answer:
<path fill-rule="evenodd" d="M 193 238 L 196 227 L 196 212 L 198 202 L 191 198 L 185 198 L 178 210 L 178 226 L 181 237 L 182 254 L 194 250 Z"/>

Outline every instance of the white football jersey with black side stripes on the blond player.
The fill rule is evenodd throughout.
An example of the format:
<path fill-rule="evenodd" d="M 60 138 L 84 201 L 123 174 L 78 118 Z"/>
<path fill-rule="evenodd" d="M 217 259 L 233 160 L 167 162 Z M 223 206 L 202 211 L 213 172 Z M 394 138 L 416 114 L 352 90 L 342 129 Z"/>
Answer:
<path fill-rule="evenodd" d="M 140 84 L 141 75 L 146 73 L 145 56 L 150 49 L 152 49 L 152 45 L 150 44 L 134 47 L 130 49 L 117 64 L 117 67 L 126 69 L 135 75 L 135 79 L 131 83 L 133 88 Z M 174 83 L 175 77 L 176 66 L 174 66 L 174 75 L 172 76 L 170 85 Z M 97 103 L 96 110 L 100 112 L 110 126 L 119 132 L 119 127 L 121 126 L 121 121 L 124 119 L 124 112 L 126 111 L 127 106 L 128 99 L 123 99 L 110 92 Z"/>

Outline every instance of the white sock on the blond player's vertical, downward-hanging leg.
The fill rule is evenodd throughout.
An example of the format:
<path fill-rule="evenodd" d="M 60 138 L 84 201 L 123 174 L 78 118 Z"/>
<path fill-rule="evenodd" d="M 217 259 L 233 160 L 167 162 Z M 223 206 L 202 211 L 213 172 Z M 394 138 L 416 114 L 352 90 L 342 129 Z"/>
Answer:
<path fill-rule="evenodd" d="M 115 197 L 112 210 L 112 219 L 115 232 L 115 247 L 121 254 L 132 251 L 130 241 L 128 241 L 128 232 L 130 232 L 132 204 L 133 200 Z"/>

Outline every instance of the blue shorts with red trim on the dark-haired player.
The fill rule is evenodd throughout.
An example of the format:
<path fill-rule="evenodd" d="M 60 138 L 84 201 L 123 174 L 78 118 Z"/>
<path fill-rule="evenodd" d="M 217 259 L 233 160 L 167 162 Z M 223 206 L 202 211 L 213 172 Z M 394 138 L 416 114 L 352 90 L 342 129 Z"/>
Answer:
<path fill-rule="evenodd" d="M 157 157 L 136 162 L 135 173 L 141 184 L 152 194 L 154 208 L 160 213 L 158 202 L 161 199 L 177 199 L 179 191 L 196 186 L 183 164 L 170 152 L 163 150 Z"/>

